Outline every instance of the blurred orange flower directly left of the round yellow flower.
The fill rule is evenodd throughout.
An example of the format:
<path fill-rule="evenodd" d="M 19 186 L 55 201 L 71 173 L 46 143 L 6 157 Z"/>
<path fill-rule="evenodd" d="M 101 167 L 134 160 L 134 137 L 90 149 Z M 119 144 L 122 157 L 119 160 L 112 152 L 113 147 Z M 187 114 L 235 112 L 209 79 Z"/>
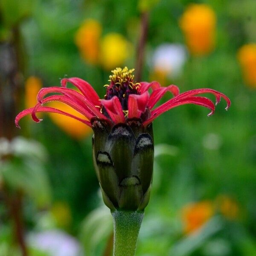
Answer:
<path fill-rule="evenodd" d="M 99 38 L 102 26 L 97 20 L 86 20 L 75 36 L 75 43 L 81 52 L 82 58 L 90 64 L 96 64 L 99 60 Z"/>

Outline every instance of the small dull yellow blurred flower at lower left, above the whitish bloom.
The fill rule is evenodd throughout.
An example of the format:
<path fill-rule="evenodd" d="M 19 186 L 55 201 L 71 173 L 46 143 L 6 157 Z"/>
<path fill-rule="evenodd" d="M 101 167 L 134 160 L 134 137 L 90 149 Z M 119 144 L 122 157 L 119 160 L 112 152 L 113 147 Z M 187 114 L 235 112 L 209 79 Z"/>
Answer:
<path fill-rule="evenodd" d="M 58 227 L 68 227 L 71 224 L 70 207 L 66 202 L 56 202 L 53 204 L 51 213 Z"/>

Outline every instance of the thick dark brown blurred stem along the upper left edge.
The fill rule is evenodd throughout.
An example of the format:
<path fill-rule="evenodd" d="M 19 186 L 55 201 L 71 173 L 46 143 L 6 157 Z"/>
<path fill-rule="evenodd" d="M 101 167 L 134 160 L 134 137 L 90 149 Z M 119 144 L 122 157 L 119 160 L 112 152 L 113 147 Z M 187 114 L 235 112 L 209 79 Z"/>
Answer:
<path fill-rule="evenodd" d="M 23 52 L 18 26 L 12 29 L 9 41 L 0 42 L 0 60 L 0 137 L 11 140 L 17 133 L 14 119 L 23 84 Z"/>

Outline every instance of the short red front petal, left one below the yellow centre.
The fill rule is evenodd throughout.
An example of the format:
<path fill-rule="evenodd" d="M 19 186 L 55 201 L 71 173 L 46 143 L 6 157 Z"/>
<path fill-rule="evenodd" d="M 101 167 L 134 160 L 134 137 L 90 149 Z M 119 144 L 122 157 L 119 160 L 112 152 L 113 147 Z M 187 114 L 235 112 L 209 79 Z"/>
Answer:
<path fill-rule="evenodd" d="M 112 99 L 102 99 L 101 103 L 115 124 L 125 122 L 125 116 L 122 111 L 121 103 L 116 96 L 113 96 Z"/>

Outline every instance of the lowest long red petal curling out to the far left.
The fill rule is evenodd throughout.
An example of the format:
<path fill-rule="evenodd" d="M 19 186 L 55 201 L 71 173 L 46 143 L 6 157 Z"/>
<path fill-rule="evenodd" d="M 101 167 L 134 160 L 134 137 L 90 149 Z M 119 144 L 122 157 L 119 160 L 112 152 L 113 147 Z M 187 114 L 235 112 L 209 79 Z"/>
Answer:
<path fill-rule="evenodd" d="M 20 128 L 19 126 L 19 121 L 21 118 L 23 118 L 24 116 L 26 115 L 29 115 L 29 114 L 32 114 L 32 112 L 34 111 L 34 108 L 29 108 L 29 109 L 25 109 L 23 110 L 22 112 L 20 112 L 16 118 L 15 118 L 15 125 L 17 126 L 17 128 Z M 62 115 L 65 115 L 65 116 L 69 116 L 69 117 L 72 117 L 73 119 L 76 119 L 90 127 L 92 127 L 91 123 L 87 120 L 84 120 L 84 119 L 81 119 L 77 116 L 73 116 L 72 114 L 69 114 L 69 113 L 66 113 L 64 111 L 61 111 L 61 110 L 58 110 L 58 109 L 55 109 L 55 108 L 49 108 L 49 107 L 39 107 L 37 109 L 37 112 L 52 112 L 52 113 L 58 113 L 58 114 L 62 114 Z M 42 120 L 42 119 L 41 119 Z M 41 121 L 39 120 L 39 122 Z"/>

